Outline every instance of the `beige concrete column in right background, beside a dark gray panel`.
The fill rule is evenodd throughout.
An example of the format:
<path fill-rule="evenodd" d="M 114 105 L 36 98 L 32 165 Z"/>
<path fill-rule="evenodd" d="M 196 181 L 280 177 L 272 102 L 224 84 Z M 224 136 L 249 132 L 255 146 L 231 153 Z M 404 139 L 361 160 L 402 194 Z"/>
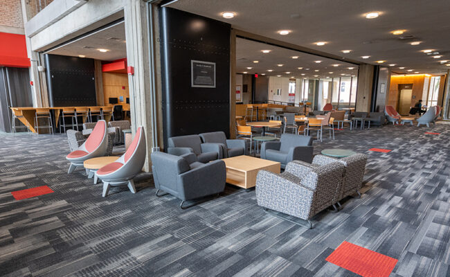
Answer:
<path fill-rule="evenodd" d="M 357 107 L 355 111 L 370 111 L 370 100 L 372 97 L 374 66 L 372 64 L 361 64 L 358 72 L 357 85 Z M 386 88 L 387 89 L 387 88 Z"/>

